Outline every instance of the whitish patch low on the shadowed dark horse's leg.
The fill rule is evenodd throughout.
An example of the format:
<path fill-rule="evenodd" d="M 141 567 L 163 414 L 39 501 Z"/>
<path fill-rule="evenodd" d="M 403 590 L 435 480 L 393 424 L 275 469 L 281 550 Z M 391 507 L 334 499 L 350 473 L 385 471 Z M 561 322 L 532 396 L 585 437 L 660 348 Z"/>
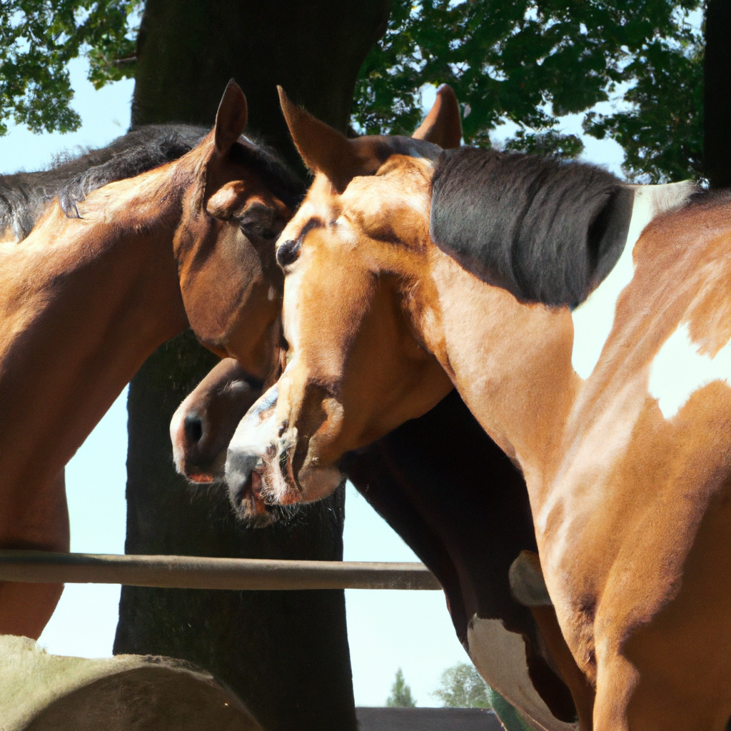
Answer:
<path fill-rule="evenodd" d="M 537 731 L 577 731 L 578 724 L 559 721 L 533 686 L 526 662 L 526 643 L 508 632 L 499 619 L 471 618 L 467 628 L 469 656 L 485 681 Z"/>

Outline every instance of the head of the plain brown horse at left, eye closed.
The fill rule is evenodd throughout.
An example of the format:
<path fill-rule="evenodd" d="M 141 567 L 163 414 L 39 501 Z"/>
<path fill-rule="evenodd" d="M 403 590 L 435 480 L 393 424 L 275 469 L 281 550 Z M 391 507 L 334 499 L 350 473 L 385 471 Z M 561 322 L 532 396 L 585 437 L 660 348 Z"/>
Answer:
<path fill-rule="evenodd" d="M 246 97 L 232 80 L 213 131 L 181 159 L 190 183 L 174 246 L 183 306 L 199 341 L 263 378 L 279 344 L 282 276 L 274 242 L 301 184 L 242 136 L 246 119 Z"/>

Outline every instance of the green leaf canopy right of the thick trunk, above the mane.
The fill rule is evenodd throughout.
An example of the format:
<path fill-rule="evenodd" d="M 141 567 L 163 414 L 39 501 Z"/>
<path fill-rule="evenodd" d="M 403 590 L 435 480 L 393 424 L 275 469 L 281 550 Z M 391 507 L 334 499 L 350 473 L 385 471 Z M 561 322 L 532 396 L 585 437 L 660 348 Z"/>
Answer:
<path fill-rule="evenodd" d="M 508 149 L 580 154 L 558 117 L 613 137 L 626 172 L 643 181 L 700 171 L 701 0 L 394 0 L 385 36 L 361 69 L 354 118 L 371 133 L 409 134 L 420 88 L 448 83 L 463 108 L 465 142 L 488 145 L 518 124 Z M 610 115 L 592 110 L 624 96 Z"/>

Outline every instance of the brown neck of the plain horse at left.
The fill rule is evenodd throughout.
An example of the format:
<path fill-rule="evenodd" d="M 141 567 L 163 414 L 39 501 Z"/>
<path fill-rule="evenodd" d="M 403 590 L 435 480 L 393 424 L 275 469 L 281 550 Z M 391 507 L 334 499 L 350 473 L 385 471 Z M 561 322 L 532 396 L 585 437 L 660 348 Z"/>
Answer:
<path fill-rule="evenodd" d="M 0 249 L 4 482 L 53 480 L 145 358 L 187 325 L 173 257 L 182 194 L 140 177 L 89 194 L 80 219 L 53 203 Z"/>

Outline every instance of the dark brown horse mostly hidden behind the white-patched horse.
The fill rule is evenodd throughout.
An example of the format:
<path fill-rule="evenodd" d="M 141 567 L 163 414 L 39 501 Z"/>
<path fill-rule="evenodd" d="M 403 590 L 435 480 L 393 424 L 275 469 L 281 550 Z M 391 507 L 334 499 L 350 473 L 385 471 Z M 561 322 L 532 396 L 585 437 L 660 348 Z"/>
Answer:
<path fill-rule="evenodd" d="M 222 480 L 226 447 L 255 398 L 250 380 L 235 360 L 222 360 L 175 412 L 173 457 L 192 482 Z M 593 691 L 561 637 L 542 582 L 514 571 L 510 583 L 511 564 L 536 550 L 523 477 L 459 395 L 452 391 L 423 417 L 349 453 L 341 469 L 439 579 L 466 649 L 473 616 L 499 619 L 524 644 L 519 663 L 500 646 L 493 652 L 503 664 L 498 684 L 523 698 L 531 726 L 567 731 L 577 715 L 591 722 Z M 245 490 L 232 491 L 238 514 L 256 523 L 279 518 L 279 506 L 257 501 L 256 479 L 252 474 Z M 530 571 L 530 563 L 519 564 Z M 527 600 L 526 583 L 534 590 Z"/>

